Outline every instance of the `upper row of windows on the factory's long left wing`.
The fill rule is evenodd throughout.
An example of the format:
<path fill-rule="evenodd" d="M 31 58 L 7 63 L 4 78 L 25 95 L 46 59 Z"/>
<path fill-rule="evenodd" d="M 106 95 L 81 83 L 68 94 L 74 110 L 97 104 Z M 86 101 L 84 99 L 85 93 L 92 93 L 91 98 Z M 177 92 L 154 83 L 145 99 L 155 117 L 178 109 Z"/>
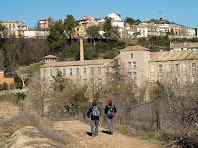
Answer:
<path fill-rule="evenodd" d="M 58 73 L 59 69 L 56 70 L 56 73 Z M 108 73 L 109 72 L 109 68 L 106 68 L 105 69 L 105 72 Z M 98 71 L 97 71 L 97 74 L 98 75 L 101 75 L 102 73 L 102 68 L 101 67 L 98 67 Z M 94 75 L 94 67 L 91 67 L 90 68 L 90 74 L 91 75 Z M 44 75 L 46 75 L 46 70 L 44 70 Z M 49 70 L 49 75 L 52 76 L 53 75 L 53 71 L 52 69 Z M 65 69 L 62 69 L 62 75 L 65 76 L 66 75 L 66 70 Z M 73 69 L 72 68 L 69 68 L 69 75 L 73 75 Z M 76 75 L 80 75 L 80 69 L 79 68 L 76 68 Z M 87 68 L 83 68 L 83 75 L 87 75 Z"/>

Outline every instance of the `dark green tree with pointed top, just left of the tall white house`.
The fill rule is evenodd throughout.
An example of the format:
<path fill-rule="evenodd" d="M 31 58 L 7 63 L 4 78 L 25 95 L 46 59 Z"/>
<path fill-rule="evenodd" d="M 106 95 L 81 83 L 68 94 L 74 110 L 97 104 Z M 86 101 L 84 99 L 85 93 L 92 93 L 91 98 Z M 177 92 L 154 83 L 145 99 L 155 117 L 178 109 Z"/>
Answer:
<path fill-rule="evenodd" d="M 106 17 L 104 22 L 104 36 L 109 39 L 117 39 L 120 37 L 119 28 L 112 26 L 111 18 Z"/>

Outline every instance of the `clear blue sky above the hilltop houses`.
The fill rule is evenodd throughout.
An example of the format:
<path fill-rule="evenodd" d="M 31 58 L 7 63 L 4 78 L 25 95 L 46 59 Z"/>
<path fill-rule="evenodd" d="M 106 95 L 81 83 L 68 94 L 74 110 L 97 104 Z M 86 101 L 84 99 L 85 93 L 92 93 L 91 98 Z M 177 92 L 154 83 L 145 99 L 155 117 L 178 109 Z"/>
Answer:
<path fill-rule="evenodd" d="M 73 15 L 75 19 L 92 15 L 101 18 L 110 13 L 148 21 L 167 19 L 186 27 L 198 28 L 198 0 L 0 0 L 0 21 L 25 21 L 36 27 L 48 16 L 53 20 Z"/>

